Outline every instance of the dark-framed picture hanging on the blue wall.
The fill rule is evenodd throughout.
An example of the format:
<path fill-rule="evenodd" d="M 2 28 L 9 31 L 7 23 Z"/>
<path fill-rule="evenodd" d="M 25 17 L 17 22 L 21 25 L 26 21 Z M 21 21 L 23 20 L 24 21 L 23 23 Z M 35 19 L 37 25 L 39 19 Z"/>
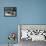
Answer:
<path fill-rule="evenodd" d="M 16 16 L 16 7 L 4 7 L 4 16 Z"/>

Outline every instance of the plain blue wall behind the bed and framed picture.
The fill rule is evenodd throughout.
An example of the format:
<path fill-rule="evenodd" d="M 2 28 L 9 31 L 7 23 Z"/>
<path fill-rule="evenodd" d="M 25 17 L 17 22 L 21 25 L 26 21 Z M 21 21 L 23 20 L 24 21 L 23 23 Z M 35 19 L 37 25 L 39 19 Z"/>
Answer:
<path fill-rule="evenodd" d="M 17 7 L 17 16 L 4 17 L 4 7 Z M 0 0 L 0 44 L 8 43 L 17 24 L 46 24 L 46 0 Z"/>

